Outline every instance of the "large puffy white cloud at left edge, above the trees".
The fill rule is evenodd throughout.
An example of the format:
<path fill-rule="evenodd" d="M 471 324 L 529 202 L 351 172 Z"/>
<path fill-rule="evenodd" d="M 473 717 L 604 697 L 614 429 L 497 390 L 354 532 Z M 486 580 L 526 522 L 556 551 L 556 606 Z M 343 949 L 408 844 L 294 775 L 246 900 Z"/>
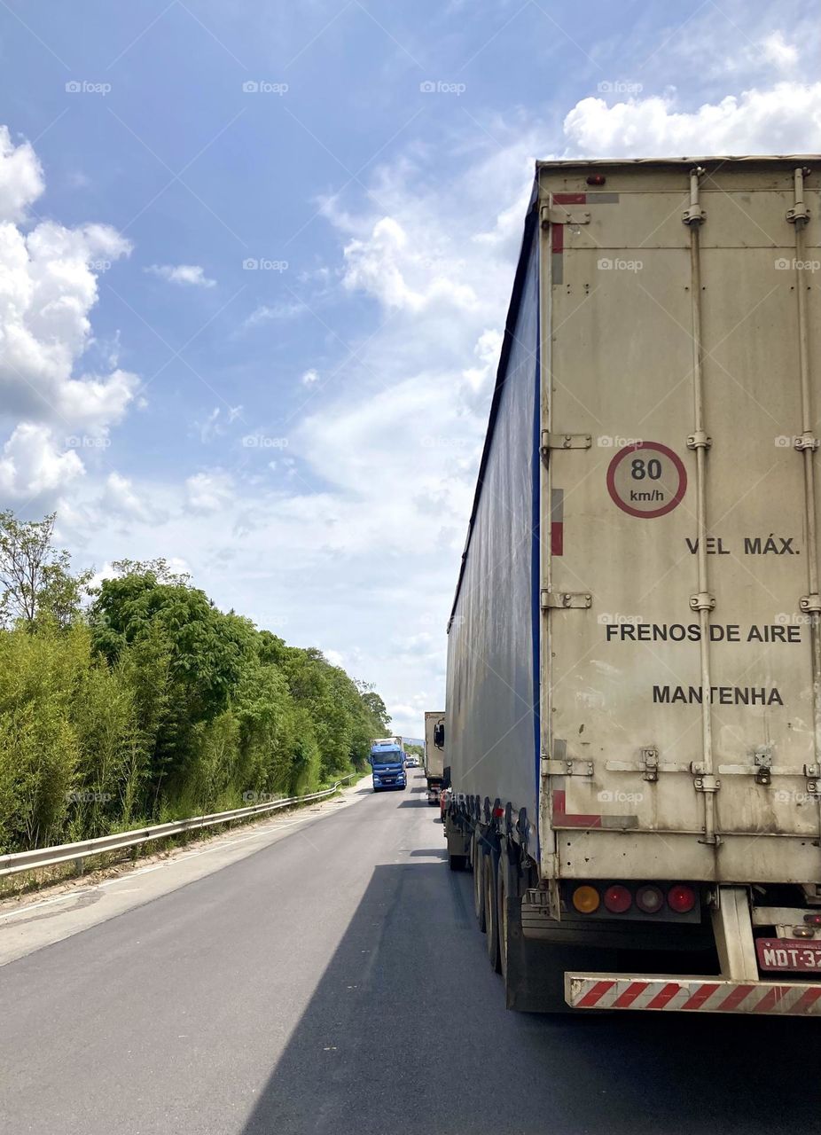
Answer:
<path fill-rule="evenodd" d="M 127 257 L 131 243 L 109 225 L 28 227 L 26 210 L 43 188 L 31 144 L 15 145 L 0 126 L 0 413 L 14 423 L 0 486 L 18 502 L 75 482 L 84 463 L 68 436 L 82 436 L 89 451 L 101 446 L 137 386 L 117 367 L 118 334 L 94 344 L 90 321 L 98 276 Z M 90 365 L 75 372 L 86 352 L 103 373 Z"/>

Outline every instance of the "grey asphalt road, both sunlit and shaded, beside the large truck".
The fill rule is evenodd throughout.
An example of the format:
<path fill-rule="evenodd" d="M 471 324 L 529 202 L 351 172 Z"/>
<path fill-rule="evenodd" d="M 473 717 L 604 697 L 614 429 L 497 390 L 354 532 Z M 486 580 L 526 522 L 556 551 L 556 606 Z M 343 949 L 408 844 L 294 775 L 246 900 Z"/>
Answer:
<path fill-rule="evenodd" d="M 508 1012 L 436 815 L 363 791 L 0 968 L 0 1129 L 816 1129 L 818 1022 Z"/>

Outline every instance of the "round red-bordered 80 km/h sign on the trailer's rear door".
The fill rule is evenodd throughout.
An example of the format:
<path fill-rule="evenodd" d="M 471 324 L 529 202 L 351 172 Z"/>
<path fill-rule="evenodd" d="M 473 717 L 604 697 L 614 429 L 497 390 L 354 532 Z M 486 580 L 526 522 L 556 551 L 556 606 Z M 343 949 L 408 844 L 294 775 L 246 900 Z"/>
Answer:
<path fill-rule="evenodd" d="M 608 493 L 631 516 L 664 516 L 687 491 L 687 470 L 661 442 L 636 442 L 613 454 Z"/>

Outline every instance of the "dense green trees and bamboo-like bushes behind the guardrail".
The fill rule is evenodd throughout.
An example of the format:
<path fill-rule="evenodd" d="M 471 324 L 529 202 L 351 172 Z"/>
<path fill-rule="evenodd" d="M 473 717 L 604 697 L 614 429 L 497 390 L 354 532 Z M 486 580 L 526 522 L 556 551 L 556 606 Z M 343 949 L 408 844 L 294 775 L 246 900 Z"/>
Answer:
<path fill-rule="evenodd" d="M 370 687 L 218 611 L 162 560 L 117 563 L 92 588 L 53 524 L 0 513 L 0 854 L 367 766 L 389 725 Z"/>

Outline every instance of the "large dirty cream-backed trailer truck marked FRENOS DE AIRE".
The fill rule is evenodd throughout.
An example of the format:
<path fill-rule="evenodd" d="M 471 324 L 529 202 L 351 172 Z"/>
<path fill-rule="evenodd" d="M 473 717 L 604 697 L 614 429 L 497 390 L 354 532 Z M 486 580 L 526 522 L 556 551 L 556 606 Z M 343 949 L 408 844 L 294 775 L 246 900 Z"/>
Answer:
<path fill-rule="evenodd" d="M 821 1014 L 820 238 L 821 157 L 536 167 L 447 649 L 511 1008 Z"/>

